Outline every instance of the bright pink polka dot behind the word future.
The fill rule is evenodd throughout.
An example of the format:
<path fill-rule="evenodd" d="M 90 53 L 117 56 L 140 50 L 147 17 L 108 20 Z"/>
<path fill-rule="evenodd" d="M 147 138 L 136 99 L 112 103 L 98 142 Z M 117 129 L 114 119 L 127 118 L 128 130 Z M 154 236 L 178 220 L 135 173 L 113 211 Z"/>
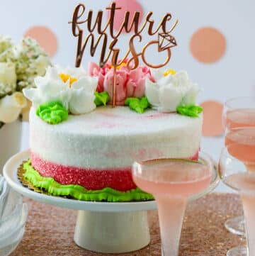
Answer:
<path fill-rule="evenodd" d="M 137 2 L 137 0 L 115 0 L 116 7 L 121 7 L 120 10 L 115 11 L 115 18 L 114 18 L 114 24 L 113 28 L 115 30 L 119 30 L 121 24 L 123 23 L 123 19 L 125 17 L 125 12 L 130 11 L 130 19 L 129 21 L 132 20 L 132 17 L 134 16 L 135 11 L 140 11 L 140 19 L 139 23 L 142 22 L 143 18 L 143 9 L 140 3 Z M 108 17 L 110 15 L 110 11 L 108 11 Z M 130 25 L 130 22 L 129 22 Z M 123 31 L 125 33 L 125 30 Z"/>

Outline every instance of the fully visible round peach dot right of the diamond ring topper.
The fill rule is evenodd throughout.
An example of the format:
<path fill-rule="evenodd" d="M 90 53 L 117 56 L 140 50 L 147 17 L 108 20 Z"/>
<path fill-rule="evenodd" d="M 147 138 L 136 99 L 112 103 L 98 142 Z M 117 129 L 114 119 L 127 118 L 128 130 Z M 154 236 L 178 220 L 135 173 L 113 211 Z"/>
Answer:
<path fill-rule="evenodd" d="M 214 63 L 225 54 L 225 36 L 216 28 L 200 28 L 193 33 L 190 49 L 193 57 L 203 63 Z"/>

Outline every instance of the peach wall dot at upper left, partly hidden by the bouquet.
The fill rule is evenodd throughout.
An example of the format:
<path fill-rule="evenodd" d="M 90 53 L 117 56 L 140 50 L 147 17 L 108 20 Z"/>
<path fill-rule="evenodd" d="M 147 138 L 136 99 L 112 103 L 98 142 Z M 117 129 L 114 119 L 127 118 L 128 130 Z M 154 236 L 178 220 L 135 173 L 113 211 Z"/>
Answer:
<path fill-rule="evenodd" d="M 24 34 L 24 37 L 30 37 L 38 41 L 39 45 L 53 57 L 57 52 L 57 37 L 55 33 L 45 26 L 34 26 Z"/>

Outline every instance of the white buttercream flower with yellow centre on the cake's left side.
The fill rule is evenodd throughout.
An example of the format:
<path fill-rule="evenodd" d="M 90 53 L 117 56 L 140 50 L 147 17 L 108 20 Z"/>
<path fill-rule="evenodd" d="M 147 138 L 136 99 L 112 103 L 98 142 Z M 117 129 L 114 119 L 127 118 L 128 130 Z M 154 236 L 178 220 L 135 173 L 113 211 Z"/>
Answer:
<path fill-rule="evenodd" d="M 36 77 L 35 84 L 38 88 L 23 89 L 35 108 L 54 101 L 74 114 L 88 113 L 96 108 L 97 79 L 87 76 L 82 68 L 48 67 L 45 77 Z"/>

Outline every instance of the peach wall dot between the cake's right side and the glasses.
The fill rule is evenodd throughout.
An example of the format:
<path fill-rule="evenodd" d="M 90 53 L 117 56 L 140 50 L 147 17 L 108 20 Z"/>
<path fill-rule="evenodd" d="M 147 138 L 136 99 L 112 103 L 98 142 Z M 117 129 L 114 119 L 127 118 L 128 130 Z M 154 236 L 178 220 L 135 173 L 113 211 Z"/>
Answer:
<path fill-rule="evenodd" d="M 217 101 L 205 101 L 200 104 L 203 111 L 203 135 L 218 136 L 224 131 L 222 125 L 223 105 Z"/>

